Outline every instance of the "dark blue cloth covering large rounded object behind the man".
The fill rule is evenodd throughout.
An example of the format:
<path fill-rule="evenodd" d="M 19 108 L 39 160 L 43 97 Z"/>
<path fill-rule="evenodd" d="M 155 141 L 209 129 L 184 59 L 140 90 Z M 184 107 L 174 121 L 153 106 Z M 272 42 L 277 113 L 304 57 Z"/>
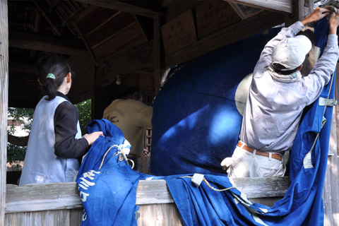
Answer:
<path fill-rule="evenodd" d="M 280 29 L 175 66 L 153 102 L 152 174 L 225 175 L 220 162 L 237 145 L 242 115 L 234 96 L 264 45 Z"/>

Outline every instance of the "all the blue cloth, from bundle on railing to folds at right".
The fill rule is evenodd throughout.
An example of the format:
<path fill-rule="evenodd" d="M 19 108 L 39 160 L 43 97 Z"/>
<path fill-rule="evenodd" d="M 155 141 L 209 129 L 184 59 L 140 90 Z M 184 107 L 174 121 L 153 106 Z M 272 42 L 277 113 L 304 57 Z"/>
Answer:
<path fill-rule="evenodd" d="M 273 207 L 249 202 L 239 190 L 231 188 L 232 184 L 228 177 L 218 171 L 222 151 L 232 155 L 241 123 L 241 116 L 234 108 L 234 89 L 242 77 L 253 69 L 253 64 L 263 48 L 262 45 L 254 44 L 265 44 L 277 32 L 271 30 L 268 35 L 257 35 L 208 54 L 205 60 L 201 57 L 185 66 L 178 66 L 177 72 L 157 95 L 153 113 L 153 142 L 155 143 L 152 150 L 152 157 L 154 157 L 152 167 L 160 167 L 160 169 L 153 169 L 153 172 L 162 172 L 162 175 L 167 176 L 154 177 L 154 179 L 166 180 L 184 225 L 323 225 L 321 194 L 326 174 L 332 107 L 319 106 L 317 100 L 305 112 L 292 147 L 290 188 L 285 197 L 277 201 Z M 316 44 L 320 43 L 320 47 L 323 48 L 328 33 L 326 20 L 322 20 L 316 26 L 315 32 Z M 319 35 L 319 32 L 322 35 Z M 238 55 L 242 57 L 238 58 Z M 224 57 L 220 60 L 218 57 L 222 56 Z M 228 65 L 229 70 L 218 68 L 220 64 L 228 64 L 228 61 L 232 62 Z M 212 64 L 212 67 L 202 64 Z M 204 67 L 206 69 L 216 67 L 219 72 L 208 74 L 204 72 Z M 249 69 L 245 69 L 247 67 Z M 190 76 L 189 69 L 193 70 L 194 76 L 199 78 L 192 81 L 191 78 L 186 78 Z M 238 70 L 242 71 L 239 74 L 242 76 L 234 76 L 234 74 L 238 75 Z M 225 72 L 231 73 L 230 78 Z M 177 73 L 180 75 L 179 78 Z M 204 76 L 200 77 L 199 73 L 203 73 Z M 222 77 L 225 77 L 225 82 L 220 81 Z M 201 82 L 200 79 L 203 81 Z M 178 88 L 167 88 L 168 84 Z M 202 84 L 209 87 L 208 92 L 201 90 L 199 86 L 196 87 Z M 330 87 L 331 84 L 326 85 L 321 97 L 328 97 L 329 93 L 329 97 L 333 98 L 334 87 L 331 90 Z M 225 95 L 222 94 L 222 90 L 225 91 Z M 170 101 L 164 94 L 176 92 L 179 92 L 179 95 L 171 97 Z M 187 96 L 191 99 L 182 103 L 183 98 Z M 213 107 L 212 101 L 215 99 L 220 100 Z M 175 105 L 174 100 L 180 104 Z M 229 106 L 222 102 L 227 102 Z M 157 105 L 162 107 L 168 105 L 169 108 L 167 112 L 161 113 Z M 165 116 L 158 114 L 165 114 Z M 321 129 L 323 115 L 328 122 Z M 226 120 L 223 120 L 223 117 Z M 160 119 L 164 121 L 157 121 Z M 234 124 L 228 124 L 227 120 L 233 121 Z M 154 124 L 155 122 L 159 124 Z M 163 129 L 160 128 L 162 126 Z M 231 129 L 228 128 L 229 126 Z M 135 206 L 136 186 L 139 179 L 150 176 L 133 172 L 131 167 L 121 159 L 120 149 L 129 149 L 129 144 L 116 126 L 105 119 L 95 120 L 90 123 L 88 131 L 104 131 L 105 137 L 99 138 L 92 145 L 77 178 L 81 198 L 85 199 L 83 225 L 136 225 L 135 212 L 138 208 Z M 226 135 L 227 131 L 232 135 Z M 200 133 L 200 136 L 196 133 Z M 218 138 L 218 141 L 215 138 Z M 112 145 L 118 145 L 120 149 L 114 146 L 105 157 L 105 153 Z M 169 145 L 169 148 L 161 147 L 162 145 Z M 310 163 L 308 167 L 304 167 L 304 161 Z M 101 162 L 103 162 L 102 167 L 100 167 Z M 192 176 L 192 173 L 196 172 L 205 174 L 205 179 L 215 189 L 230 189 L 215 191 L 204 183 L 196 187 L 190 178 L 184 177 Z"/>

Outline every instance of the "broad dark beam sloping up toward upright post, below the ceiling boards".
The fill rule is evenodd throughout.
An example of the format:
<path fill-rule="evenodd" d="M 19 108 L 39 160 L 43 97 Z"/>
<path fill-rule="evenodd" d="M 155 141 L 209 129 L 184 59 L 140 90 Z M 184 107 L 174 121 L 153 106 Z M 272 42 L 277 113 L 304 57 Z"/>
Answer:
<path fill-rule="evenodd" d="M 107 63 L 97 69 L 96 87 L 111 84 L 119 74 L 129 74 L 153 63 L 153 40 L 133 49 L 126 54 L 107 59 Z"/>

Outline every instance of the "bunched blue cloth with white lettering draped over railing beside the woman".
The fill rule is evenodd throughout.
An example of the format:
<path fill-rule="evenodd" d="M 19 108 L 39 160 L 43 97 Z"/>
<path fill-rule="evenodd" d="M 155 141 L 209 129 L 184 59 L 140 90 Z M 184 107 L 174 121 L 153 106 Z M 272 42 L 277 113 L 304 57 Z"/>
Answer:
<path fill-rule="evenodd" d="M 119 153 L 131 145 L 107 119 L 91 121 L 88 132 L 95 131 L 104 136 L 91 146 L 76 179 L 84 208 L 81 225 L 136 225 L 139 175 Z"/>

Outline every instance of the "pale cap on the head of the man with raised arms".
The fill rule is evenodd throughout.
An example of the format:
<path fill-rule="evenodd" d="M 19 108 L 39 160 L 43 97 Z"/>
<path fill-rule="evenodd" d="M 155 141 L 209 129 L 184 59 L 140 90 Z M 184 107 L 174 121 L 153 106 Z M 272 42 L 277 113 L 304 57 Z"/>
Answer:
<path fill-rule="evenodd" d="M 305 35 L 285 38 L 281 40 L 273 50 L 272 64 L 278 63 L 289 71 L 302 65 L 306 54 L 311 50 L 312 44 Z"/>

